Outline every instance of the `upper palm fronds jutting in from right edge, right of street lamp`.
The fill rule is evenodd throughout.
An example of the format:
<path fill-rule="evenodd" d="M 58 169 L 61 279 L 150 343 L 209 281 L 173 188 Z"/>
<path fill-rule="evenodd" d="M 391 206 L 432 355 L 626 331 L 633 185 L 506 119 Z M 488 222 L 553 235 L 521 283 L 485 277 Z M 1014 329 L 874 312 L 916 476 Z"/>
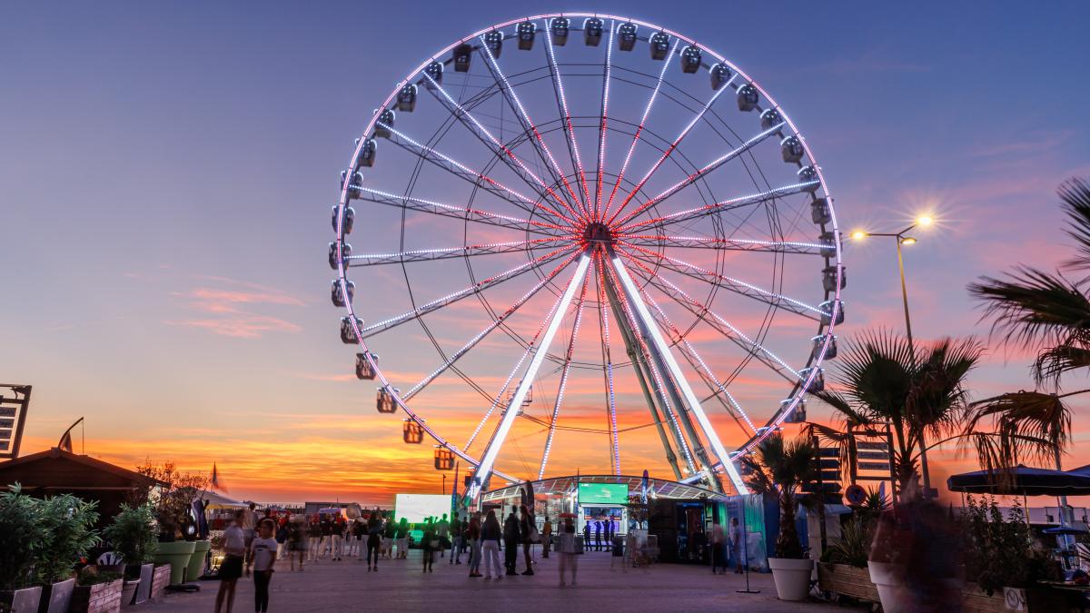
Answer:
<path fill-rule="evenodd" d="M 1076 255 L 1053 273 L 1019 265 L 1002 279 L 982 277 L 969 293 L 984 303 L 993 337 L 1038 351 L 1034 378 L 1058 386 L 1062 374 L 1090 368 L 1090 298 L 1083 291 L 1090 278 L 1073 281 L 1062 272 L 1090 269 L 1090 184 L 1070 179 L 1057 193 Z"/>

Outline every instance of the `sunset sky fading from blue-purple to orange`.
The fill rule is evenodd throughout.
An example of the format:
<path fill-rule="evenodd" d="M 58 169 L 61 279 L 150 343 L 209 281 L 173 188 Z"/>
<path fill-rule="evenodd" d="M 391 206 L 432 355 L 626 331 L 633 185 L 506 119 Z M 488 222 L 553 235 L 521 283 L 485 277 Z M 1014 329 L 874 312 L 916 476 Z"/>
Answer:
<path fill-rule="evenodd" d="M 34 385 L 23 453 L 56 444 L 85 417 L 88 454 L 124 466 L 172 460 L 205 472 L 215 461 L 240 497 L 388 504 L 395 492 L 438 493 L 444 473 L 432 469 L 431 446 L 403 444 L 400 417 L 375 412 L 374 385 L 355 380 L 353 350 L 337 338 L 341 313 L 329 304 L 326 245 L 338 173 L 372 110 L 432 53 L 493 23 L 566 9 L 584 8 L 508 1 L 470 9 L 362 2 L 0 9 L 0 380 Z M 1051 268 L 1070 253 L 1055 189 L 1067 178 L 1090 177 L 1090 124 L 1080 120 L 1090 85 L 1078 77 L 1090 57 L 1081 32 L 1090 8 L 783 2 L 770 14 L 741 3 L 682 11 L 607 1 L 595 9 L 691 36 L 772 93 L 819 159 L 845 231 L 896 231 L 917 215 L 933 215 L 936 227 L 916 235 L 919 243 L 905 253 L 916 337 L 974 334 L 988 342 L 984 364 L 969 377 L 977 398 L 1032 386 L 1028 356 L 989 337 L 965 287 L 1017 264 Z M 632 61 L 645 51 L 634 53 Z M 500 61 L 521 60 L 509 46 Z M 680 76 L 671 71 L 670 79 Z M 586 79 L 570 83 L 572 100 L 597 95 Z M 622 95 L 621 85 L 617 92 L 618 118 L 626 100 L 630 110 L 642 107 L 645 94 Z M 542 100 L 528 98 L 532 111 L 556 112 L 550 99 L 552 106 Z M 409 119 L 436 110 L 423 92 L 420 106 Z M 659 105 L 652 119 L 681 121 L 670 108 Z M 731 111 L 730 120 L 738 119 Z M 743 119 L 755 130 L 755 117 Z M 412 123 L 398 125 L 408 131 Z M 564 146 L 562 133 L 548 137 L 557 134 L 549 141 L 555 148 Z M 475 159 L 482 152 L 471 145 L 480 143 L 464 139 L 464 153 L 451 151 Z M 694 155 L 711 146 L 693 145 Z M 393 147 L 380 151 L 388 172 L 404 170 L 392 164 Z M 633 166 L 646 166 L 647 155 L 638 149 Z M 425 177 L 425 197 L 460 197 L 431 180 L 437 175 Z M 723 195 L 737 193 L 724 188 Z M 398 249 L 389 241 L 400 220 L 356 206 L 356 252 L 372 251 L 364 244 Z M 446 231 L 422 229 L 416 243 L 402 244 L 444 247 Z M 489 274 L 518 262 L 491 257 L 483 268 Z M 875 326 L 900 329 L 893 244 L 851 244 L 845 263 L 841 338 Z M 386 271 L 359 277 L 358 305 L 366 299 L 371 320 L 403 311 L 409 299 L 404 277 Z M 450 291 L 444 284 L 461 287 L 465 274 L 464 266 L 449 275 L 437 267 L 413 277 L 413 289 L 441 296 Z M 802 278 L 785 274 L 788 285 Z M 528 287 L 494 300 L 509 303 Z M 528 303 L 536 318 L 512 320 L 512 329 L 532 336 L 550 303 Z M 445 316 L 434 321 L 449 352 L 480 327 L 482 309 L 460 303 Z M 553 353 L 562 352 L 571 320 Z M 376 352 L 388 374 L 411 384 L 440 360 L 422 329 L 409 327 L 376 340 Z M 718 360 L 714 337 L 703 334 L 694 342 L 708 344 L 705 352 Z M 804 356 L 812 334 L 777 320 L 770 342 Z M 470 362 L 492 394 L 521 354 L 506 340 Z M 715 364 L 728 363 L 723 353 Z M 1069 388 L 1082 378 L 1071 375 Z M 555 398 L 557 373 L 546 381 L 540 392 L 535 385 L 532 414 L 547 413 Z M 564 417 L 601 428 L 592 385 L 601 390 L 601 383 L 579 381 L 585 388 L 573 384 Z M 738 381 L 768 406 L 782 392 L 762 392 L 763 383 Z M 620 425 L 644 425 L 634 387 L 618 394 Z M 456 377 L 421 398 L 429 423 L 458 444 L 487 410 Z M 1090 464 L 1083 450 L 1090 414 L 1085 401 L 1073 405 L 1075 444 L 1064 461 L 1074 467 Z M 812 404 L 810 417 L 828 413 Z M 713 421 L 726 442 L 737 443 L 727 420 L 720 411 Z M 526 456 L 541 454 L 541 432 L 520 428 L 499 466 L 535 474 L 537 459 Z M 646 467 L 668 476 L 653 430 L 633 431 L 621 445 L 626 473 Z M 560 432 L 548 473 L 608 471 L 607 447 L 601 432 Z M 933 482 L 972 468 L 954 447 L 932 461 Z"/>

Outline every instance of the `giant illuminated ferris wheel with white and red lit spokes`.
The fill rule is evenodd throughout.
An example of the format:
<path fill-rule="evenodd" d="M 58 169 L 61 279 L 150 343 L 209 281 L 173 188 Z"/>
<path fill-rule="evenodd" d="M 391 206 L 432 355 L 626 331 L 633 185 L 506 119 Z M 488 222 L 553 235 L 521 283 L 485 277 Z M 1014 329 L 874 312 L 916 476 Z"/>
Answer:
<path fill-rule="evenodd" d="M 646 22 L 536 15 L 431 55 L 356 140 L 332 227 L 356 376 L 437 469 L 464 462 L 470 500 L 550 453 L 744 492 L 736 458 L 804 421 L 836 354 L 840 238 L 806 139 Z"/>

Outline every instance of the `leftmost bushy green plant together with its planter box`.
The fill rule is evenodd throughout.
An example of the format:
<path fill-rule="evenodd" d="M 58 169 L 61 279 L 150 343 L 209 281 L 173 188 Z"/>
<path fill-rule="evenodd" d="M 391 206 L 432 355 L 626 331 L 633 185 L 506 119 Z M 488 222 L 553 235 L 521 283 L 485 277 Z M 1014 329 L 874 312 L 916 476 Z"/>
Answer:
<path fill-rule="evenodd" d="M 34 585 L 34 562 L 47 538 L 37 518 L 39 502 L 19 483 L 0 494 L 0 609 L 12 613 L 35 612 L 41 600 L 41 588 Z"/>

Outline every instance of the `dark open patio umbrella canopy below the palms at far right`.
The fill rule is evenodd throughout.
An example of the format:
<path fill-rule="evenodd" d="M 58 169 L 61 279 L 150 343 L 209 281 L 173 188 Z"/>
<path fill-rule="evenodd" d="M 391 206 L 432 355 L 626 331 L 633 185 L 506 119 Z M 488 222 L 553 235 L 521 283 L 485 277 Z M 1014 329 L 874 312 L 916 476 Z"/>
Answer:
<path fill-rule="evenodd" d="M 1086 467 L 1083 467 L 1086 468 Z M 1076 469 L 1079 470 L 1079 469 Z M 1004 479 L 1008 477 L 1009 479 Z M 1001 483 L 1002 481 L 1006 483 Z M 1083 496 L 1090 494 L 1090 472 L 1015 467 L 1009 474 L 977 470 L 954 474 L 946 480 L 952 492 L 970 494 L 1017 494 L 1019 496 Z"/>

